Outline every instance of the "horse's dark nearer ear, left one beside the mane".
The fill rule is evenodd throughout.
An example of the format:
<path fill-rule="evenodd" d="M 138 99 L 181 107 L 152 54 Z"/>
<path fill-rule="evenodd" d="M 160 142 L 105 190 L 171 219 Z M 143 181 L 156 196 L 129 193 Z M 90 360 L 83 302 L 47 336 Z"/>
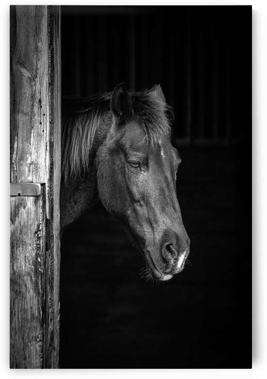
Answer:
<path fill-rule="evenodd" d="M 132 99 L 127 91 L 126 83 L 120 83 L 113 89 L 111 111 L 119 125 L 125 124 L 132 115 Z"/>

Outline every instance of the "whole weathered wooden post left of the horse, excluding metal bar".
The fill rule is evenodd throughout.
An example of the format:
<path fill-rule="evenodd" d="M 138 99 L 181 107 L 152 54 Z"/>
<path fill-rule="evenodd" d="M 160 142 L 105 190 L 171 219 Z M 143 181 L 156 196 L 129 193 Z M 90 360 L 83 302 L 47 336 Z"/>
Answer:
<path fill-rule="evenodd" d="M 10 69 L 10 367 L 59 368 L 59 6 L 10 7 Z"/>

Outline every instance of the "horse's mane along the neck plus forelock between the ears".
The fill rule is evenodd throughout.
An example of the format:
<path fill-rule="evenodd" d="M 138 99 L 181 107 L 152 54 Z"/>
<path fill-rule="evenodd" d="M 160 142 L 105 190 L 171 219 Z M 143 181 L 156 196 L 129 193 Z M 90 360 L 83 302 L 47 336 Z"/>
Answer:
<path fill-rule="evenodd" d="M 111 95 L 110 92 L 89 98 L 62 99 L 62 172 L 65 180 L 88 168 L 96 139 L 109 131 Z M 157 91 L 130 92 L 130 96 L 132 119 L 140 124 L 147 144 L 154 147 L 160 139 L 170 137 L 172 108 Z"/>

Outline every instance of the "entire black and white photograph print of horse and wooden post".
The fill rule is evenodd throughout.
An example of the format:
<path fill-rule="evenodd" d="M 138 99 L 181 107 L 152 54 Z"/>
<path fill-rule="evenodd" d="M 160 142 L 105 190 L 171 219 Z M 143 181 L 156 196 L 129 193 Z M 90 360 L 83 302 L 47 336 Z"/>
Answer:
<path fill-rule="evenodd" d="M 251 5 L 10 6 L 10 368 L 251 369 Z"/>

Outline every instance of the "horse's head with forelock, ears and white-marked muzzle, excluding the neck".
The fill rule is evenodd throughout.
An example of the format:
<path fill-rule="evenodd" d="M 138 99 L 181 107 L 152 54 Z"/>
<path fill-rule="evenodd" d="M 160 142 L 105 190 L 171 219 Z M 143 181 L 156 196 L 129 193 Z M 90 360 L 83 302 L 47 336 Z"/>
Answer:
<path fill-rule="evenodd" d="M 112 125 L 95 160 L 98 196 L 125 223 L 148 274 L 169 280 L 184 267 L 189 238 L 176 195 L 181 159 L 170 140 L 168 106 L 159 85 L 137 96 L 121 83 L 110 109 Z"/>

